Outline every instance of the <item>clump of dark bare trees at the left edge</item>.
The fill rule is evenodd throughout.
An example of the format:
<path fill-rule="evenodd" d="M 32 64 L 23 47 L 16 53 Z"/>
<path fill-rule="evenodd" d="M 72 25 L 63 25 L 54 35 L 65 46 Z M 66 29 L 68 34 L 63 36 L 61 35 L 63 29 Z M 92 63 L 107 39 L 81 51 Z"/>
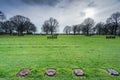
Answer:
<path fill-rule="evenodd" d="M 6 16 L 0 11 L 0 33 L 1 34 L 29 34 L 36 32 L 36 26 L 30 21 L 29 18 L 22 15 L 16 15 L 6 20 Z"/>

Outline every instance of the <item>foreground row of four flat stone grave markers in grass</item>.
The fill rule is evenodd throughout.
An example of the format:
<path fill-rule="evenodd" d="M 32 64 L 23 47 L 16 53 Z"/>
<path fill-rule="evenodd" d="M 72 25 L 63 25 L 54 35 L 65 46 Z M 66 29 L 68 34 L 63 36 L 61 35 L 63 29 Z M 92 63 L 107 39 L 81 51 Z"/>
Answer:
<path fill-rule="evenodd" d="M 113 76 L 119 76 L 119 72 L 117 72 L 114 69 L 106 69 L 106 71 Z M 19 73 L 17 74 L 17 77 L 26 77 L 29 73 L 31 72 L 30 69 L 22 69 L 19 71 Z M 45 75 L 46 76 L 55 76 L 57 74 L 56 69 L 54 68 L 49 68 L 45 71 Z M 85 73 L 82 69 L 73 69 L 73 74 L 78 76 L 78 77 L 84 77 Z"/>

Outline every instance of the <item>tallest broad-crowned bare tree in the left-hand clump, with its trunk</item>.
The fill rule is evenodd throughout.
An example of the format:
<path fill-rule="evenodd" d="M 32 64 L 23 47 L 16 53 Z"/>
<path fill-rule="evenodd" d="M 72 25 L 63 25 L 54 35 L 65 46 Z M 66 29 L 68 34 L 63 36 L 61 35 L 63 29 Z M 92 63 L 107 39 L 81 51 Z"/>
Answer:
<path fill-rule="evenodd" d="M 23 32 L 25 31 L 25 23 L 30 22 L 30 19 L 21 15 L 16 15 L 10 18 L 10 20 L 14 23 L 16 26 L 16 31 L 18 32 L 18 35 L 23 35 Z"/>

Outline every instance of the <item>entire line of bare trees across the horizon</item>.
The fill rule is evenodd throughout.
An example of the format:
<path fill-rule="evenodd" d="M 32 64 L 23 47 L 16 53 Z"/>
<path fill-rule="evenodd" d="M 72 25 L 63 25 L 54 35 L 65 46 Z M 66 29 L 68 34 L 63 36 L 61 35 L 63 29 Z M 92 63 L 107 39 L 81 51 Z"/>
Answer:
<path fill-rule="evenodd" d="M 7 33 L 13 35 L 32 34 L 37 31 L 36 26 L 29 18 L 22 15 L 16 15 L 9 20 L 0 11 L 0 33 Z M 44 34 L 55 34 L 58 31 L 59 22 L 54 18 L 49 18 L 44 21 L 41 30 Z M 120 35 L 120 12 L 113 13 L 106 22 L 99 22 L 95 24 L 94 19 L 86 18 L 82 23 L 72 26 L 65 26 L 63 32 L 65 34 L 84 34 L 84 35 Z"/>

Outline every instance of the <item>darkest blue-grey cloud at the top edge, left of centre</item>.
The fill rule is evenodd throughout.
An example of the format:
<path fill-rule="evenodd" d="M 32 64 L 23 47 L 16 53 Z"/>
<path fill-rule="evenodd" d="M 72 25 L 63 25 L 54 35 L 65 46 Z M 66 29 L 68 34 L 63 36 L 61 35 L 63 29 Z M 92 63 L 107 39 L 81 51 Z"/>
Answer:
<path fill-rule="evenodd" d="M 42 5 L 42 6 L 55 6 L 60 0 L 22 0 L 24 3 L 29 5 Z"/>

